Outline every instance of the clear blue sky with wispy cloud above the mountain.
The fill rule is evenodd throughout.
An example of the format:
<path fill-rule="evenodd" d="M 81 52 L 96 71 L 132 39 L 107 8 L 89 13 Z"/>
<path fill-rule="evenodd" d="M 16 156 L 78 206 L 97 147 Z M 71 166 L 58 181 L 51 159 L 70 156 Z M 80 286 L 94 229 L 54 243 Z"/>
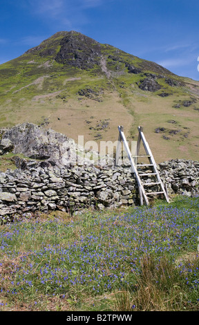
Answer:
<path fill-rule="evenodd" d="M 199 80 L 198 0 L 0 0 L 0 64 L 77 30 Z"/>

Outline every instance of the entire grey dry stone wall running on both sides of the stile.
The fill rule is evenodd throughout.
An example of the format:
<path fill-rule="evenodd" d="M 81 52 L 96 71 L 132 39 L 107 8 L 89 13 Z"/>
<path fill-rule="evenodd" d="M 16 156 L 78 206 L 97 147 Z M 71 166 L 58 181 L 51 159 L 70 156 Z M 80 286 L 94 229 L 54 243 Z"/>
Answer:
<path fill-rule="evenodd" d="M 1 220 L 38 211 L 139 205 L 138 187 L 129 166 L 59 168 L 48 161 L 20 158 L 17 165 L 15 170 L 0 172 Z M 170 160 L 158 165 L 158 169 L 169 195 L 198 195 L 199 162 Z"/>

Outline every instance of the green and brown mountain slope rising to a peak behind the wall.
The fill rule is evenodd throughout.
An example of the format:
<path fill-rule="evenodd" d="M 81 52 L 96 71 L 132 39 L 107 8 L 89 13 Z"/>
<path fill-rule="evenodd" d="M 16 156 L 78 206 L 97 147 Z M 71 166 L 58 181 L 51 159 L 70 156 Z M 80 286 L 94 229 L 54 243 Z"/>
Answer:
<path fill-rule="evenodd" d="M 78 32 L 58 32 L 1 64 L 0 76 L 0 127 L 34 122 L 99 142 L 117 140 L 118 125 L 137 140 L 142 125 L 158 163 L 198 160 L 199 82 L 154 62 Z M 144 88 L 146 79 L 157 90 Z"/>

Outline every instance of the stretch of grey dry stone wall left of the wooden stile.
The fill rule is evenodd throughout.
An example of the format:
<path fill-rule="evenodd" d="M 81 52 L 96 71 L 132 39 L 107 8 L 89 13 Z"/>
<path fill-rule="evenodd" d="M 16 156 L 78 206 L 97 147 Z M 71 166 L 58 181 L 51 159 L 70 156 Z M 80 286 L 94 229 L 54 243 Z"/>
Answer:
<path fill-rule="evenodd" d="M 91 166 L 62 168 L 36 161 L 21 162 L 25 169 L 0 172 L 0 215 L 83 207 L 135 204 L 138 196 L 130 169 Z"/>

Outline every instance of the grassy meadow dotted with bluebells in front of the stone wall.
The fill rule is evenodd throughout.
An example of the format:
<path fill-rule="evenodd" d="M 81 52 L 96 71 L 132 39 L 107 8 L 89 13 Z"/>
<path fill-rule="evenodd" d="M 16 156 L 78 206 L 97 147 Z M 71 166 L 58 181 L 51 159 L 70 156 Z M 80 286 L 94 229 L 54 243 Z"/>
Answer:
<path fill-rule="evenodd" d="M 199 310 L 199 199 L 1 223 L 0 310 Z"/>

